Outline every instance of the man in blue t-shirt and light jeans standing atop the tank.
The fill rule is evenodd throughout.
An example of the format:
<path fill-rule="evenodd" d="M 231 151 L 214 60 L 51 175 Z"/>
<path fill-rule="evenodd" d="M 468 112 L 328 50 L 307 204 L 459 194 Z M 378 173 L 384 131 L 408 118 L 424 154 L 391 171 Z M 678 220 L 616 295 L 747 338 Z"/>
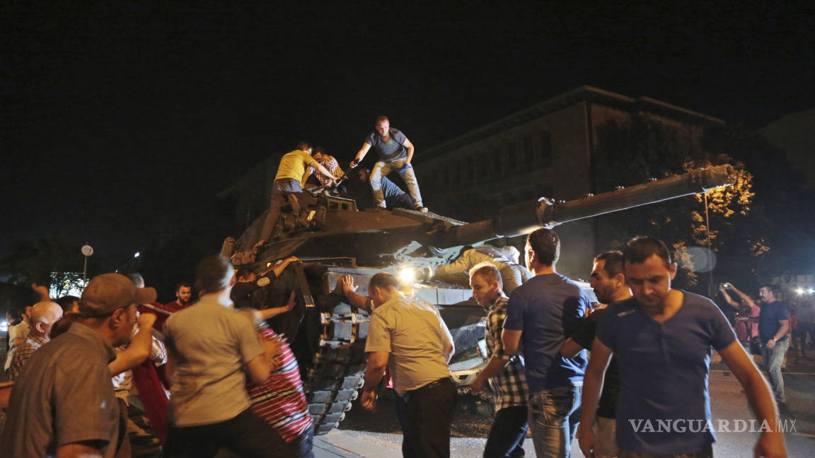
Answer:
<path fill-rule="evenodd" d="M 407 192 L 410 193 L 413 206 L 422 213 L 427 213 L 427 208 L 421 203 L 419 182 L 416 180 L 416 173 L 411 165 L 415 150 L 413 143 L 401 131 L 390 127 L 388 117 L 377 117 L 376 131 L 365 139 L 354 161 L 351 161 L 350 167 L 354 169 L 359 165 L 371 148 L 379 154 L 379 161 L 373 165 L 370 177 L 374 203 L 383 209 L 385 208 L 385 196 L 382 193 L 381 179 L 390 172 L 398 171 L 407 185 Z"/>

